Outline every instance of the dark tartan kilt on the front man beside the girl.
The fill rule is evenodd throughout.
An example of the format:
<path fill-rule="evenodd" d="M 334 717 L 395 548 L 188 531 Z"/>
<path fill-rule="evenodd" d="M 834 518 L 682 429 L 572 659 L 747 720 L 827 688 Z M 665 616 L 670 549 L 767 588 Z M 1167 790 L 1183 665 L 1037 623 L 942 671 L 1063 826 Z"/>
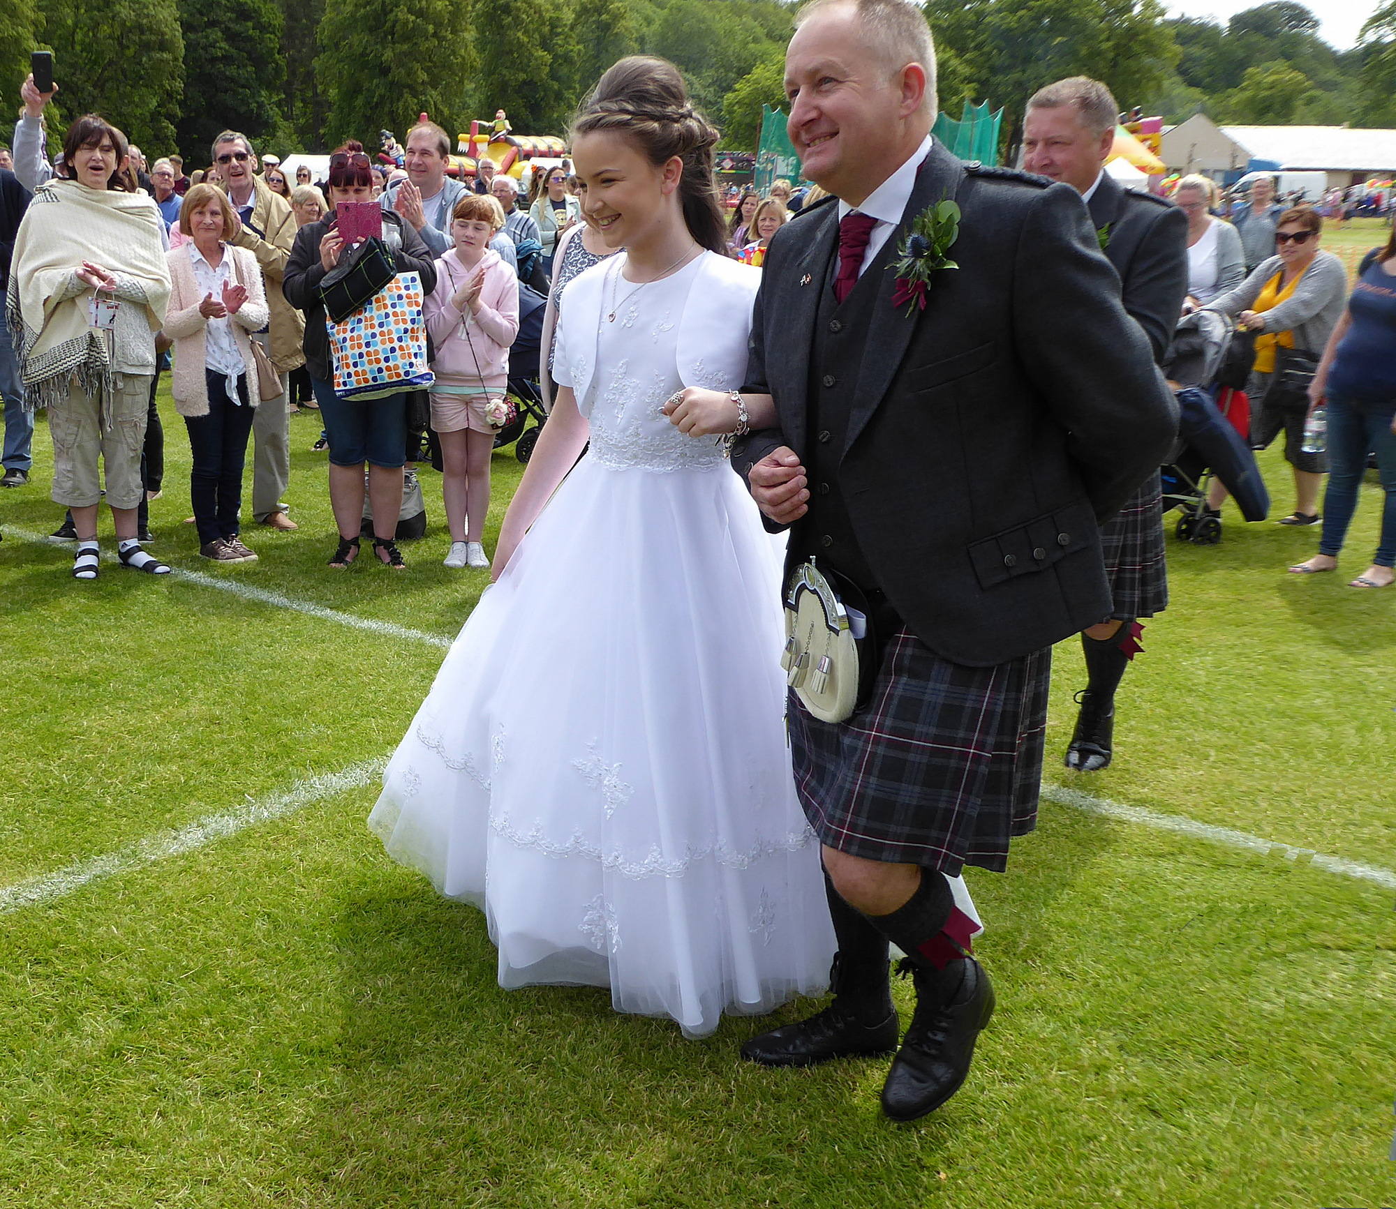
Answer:
<path fill-rule="evenodd" d="M 905 627 L 872 697 L 846 722 L 819 722 L 792 692 L 796 792 L 829 847 L 955 875 L 1001 873 L 1008 842 L 1037 825 L 1051 648 L 966 667 Z"/>

